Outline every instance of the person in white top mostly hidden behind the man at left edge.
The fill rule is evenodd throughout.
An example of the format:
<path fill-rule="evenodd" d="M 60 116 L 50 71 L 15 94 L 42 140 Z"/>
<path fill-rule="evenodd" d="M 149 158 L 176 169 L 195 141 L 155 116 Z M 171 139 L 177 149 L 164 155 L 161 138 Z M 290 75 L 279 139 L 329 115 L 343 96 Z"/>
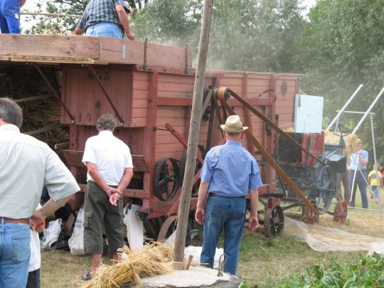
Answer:
<path fill-rule="evenodd" d="M 40 204 L 38 204 L 38 208 L 41 208 Z M 29 259 L 26 288 L 40 288 L 41 250 L 38 233 L 42 233 L 44 230 L 46 230 L 46 221 L 38 224 L 35 230 L 31 230 L 31 258 Z"/>

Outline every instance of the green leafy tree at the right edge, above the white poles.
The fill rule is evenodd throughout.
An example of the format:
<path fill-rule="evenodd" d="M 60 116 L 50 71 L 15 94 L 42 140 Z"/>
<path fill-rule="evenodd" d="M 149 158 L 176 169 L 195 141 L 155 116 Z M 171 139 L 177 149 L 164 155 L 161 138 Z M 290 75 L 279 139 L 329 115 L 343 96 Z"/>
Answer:
<path fill-rule="evenodd" d="M 335 107 L 341 107 L 360 83 L 364 90 L 348 109 L 366 110 L 384 86 L 383 12 L 381 0 L 321 0 L 310 11 L 310 23 L 301 39 L 305 51 L 300 54 L 304 55 L 302 85 L 308 92 L 326 97 L 325 114 L 336 114 Z M 384 149 L 383 99 L 374 110 L 378 151 Z M 352 119 L 349 131 L 360 117 L 354 121 L 348 117 Z M 365 124 L 359 133 L 372 147 L 370 125 Z M 384 155 L 380 157 L 384 161 Z"/>

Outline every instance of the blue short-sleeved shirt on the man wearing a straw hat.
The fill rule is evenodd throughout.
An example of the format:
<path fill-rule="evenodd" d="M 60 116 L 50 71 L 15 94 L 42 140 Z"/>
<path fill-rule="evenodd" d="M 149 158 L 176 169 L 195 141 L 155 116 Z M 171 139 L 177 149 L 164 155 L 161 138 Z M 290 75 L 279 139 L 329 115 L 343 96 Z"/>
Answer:
<path fill-rule="evenodd" d="M 201 180 L 210 183 L 208 193 L 221 196 L 246 196 L 262 186 L 256 159 L 240 142 L 228 141 L 206 154 Z"/>

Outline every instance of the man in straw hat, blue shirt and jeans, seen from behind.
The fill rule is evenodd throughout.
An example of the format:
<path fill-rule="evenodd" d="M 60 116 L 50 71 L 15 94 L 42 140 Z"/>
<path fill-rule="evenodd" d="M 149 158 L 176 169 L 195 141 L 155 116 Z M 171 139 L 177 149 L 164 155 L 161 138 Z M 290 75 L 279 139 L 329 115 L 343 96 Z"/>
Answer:
<path fill-rule="evenodd" d="M 245 196 L 250 194 L 248 228 L 254 231 L 259 225 L 257 188 L 262 186 L 262 181 L 255 158 L 241 145 L 248 127 L 242 126 L 238 115 L 228 117 L 220 127 L 226 143 L 213 147 L 206 154 L 195 219 L 204 225 L 201 263 L 213 268 L 216 246 L 224 228 L 224 253 L 227 255 L 224 272 L 236 274 L 245 224 Z"/>

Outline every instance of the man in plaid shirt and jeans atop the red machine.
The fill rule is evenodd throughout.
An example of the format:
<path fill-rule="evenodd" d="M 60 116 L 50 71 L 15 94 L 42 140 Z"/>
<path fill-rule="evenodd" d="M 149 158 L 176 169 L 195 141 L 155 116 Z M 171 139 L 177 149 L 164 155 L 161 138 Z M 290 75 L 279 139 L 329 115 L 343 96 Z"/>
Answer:
<path fill-rule="evenodd" d="M 75 35 L 105 36 L 129 40 L 134 34 L 129 28 L 129 7 L 124 0 L 90 0 L 75 30 Z"/>

